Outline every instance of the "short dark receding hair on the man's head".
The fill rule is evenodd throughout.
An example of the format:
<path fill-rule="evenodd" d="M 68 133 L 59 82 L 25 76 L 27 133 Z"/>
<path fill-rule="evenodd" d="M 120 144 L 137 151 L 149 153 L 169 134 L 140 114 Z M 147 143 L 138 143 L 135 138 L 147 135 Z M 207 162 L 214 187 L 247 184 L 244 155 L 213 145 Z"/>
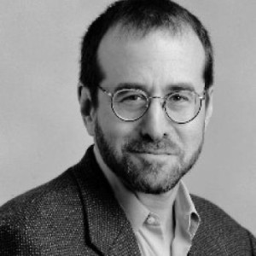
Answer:
<path fill-rule="evenodd" d="M 90 90 L 93 104 L 97 105 L 97 86 L 104 79 L 97 51 L 110 28 L 121 25 L 127 29 L 148 32 L 157 28 L 177 32 L 190 27 L 204 47 L 206 61 L 203 71 L 205 90 L 213 83 L 213 50 L 207 29 L 195 15 L 171 0 L 119 0 L 94 20 L 84 35 L 81 47 L 80 82 Z"/>

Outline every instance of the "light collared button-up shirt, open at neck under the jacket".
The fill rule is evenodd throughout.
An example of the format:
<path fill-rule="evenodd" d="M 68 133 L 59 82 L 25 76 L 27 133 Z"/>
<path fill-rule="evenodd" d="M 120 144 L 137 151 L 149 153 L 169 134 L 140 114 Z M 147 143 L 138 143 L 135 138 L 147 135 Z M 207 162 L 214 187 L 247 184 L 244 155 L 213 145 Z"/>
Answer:
<path fill-rule="evenodd" d="M 137 237 L 137 242 L 143 256 L 184 256 L 189 253 L 192 239 L 200 224 L 199 214 L 189 195 L 189 191 L 182 181 L 177 186 L 174 202 L 175 230 L 172 241 L 167 241 L 160 217 L 150 212 L 137 196 L 125 185 L 104 163 L 98 149 L 94 153 L 102 172 L 108 179 L 113 193 L 123 208 L 126 217 Z M 170 203 L 170 207 L 172 203 Z M 172 227 L 170 227 L 172 229 Z"/>

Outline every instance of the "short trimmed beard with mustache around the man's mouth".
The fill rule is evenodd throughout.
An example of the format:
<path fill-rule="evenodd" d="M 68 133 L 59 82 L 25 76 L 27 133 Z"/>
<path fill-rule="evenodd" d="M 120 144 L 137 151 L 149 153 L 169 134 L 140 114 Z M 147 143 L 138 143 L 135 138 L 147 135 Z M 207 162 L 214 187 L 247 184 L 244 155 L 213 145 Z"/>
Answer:
<path fill-rule="evenodd" d="M 140 137 L 136 140 L 125 139 L 121 154 L 119 154 L 105 137 L 97 119 L 95 139 L 105 164 L 128 189 L 146 194 L 160 195 L 173 189 L 180 179 L 195 165 L 201 154 L 204 132 L 202 132 L 201 143 L 189 157 L 186 157 L 185 152 L 177 143 L 173 143 L 166 138 L 156 142 L 149 137 Z M 168 157 L 173 159 L 172 163 L 167 164 L 166 161 L 143 158 L 138 160 L 132 156 L 132 154 L 156 151 L 170 154 Z"/>

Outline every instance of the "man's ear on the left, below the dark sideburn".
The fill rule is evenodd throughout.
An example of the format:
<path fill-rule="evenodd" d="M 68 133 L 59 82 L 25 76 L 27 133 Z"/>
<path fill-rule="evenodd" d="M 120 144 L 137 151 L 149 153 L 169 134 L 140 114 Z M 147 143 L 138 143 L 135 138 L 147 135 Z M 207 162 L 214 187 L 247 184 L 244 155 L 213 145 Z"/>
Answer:
<path fill-rule="evenodd" d="M 78 98 L 84 125 L 90 136 L 93 137 L 96 120 L 96 109 L 94 108 L 91 101 L 90 90 L 81 83 L 79 83 L 78 86 Z"/>

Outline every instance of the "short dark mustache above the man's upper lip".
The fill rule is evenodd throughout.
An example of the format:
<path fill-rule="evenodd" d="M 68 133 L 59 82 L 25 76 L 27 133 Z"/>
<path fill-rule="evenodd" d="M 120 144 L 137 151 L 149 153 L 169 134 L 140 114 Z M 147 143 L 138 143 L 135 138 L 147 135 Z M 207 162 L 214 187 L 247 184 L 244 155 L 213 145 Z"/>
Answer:
<path fill-rule="evenodd" d="M 125 149 L 134 153 L 148 154 L 179 154 L 181 148 L 169 139 L 148 141 L 146 139 L 132 140 L 125 144 Z"/>

